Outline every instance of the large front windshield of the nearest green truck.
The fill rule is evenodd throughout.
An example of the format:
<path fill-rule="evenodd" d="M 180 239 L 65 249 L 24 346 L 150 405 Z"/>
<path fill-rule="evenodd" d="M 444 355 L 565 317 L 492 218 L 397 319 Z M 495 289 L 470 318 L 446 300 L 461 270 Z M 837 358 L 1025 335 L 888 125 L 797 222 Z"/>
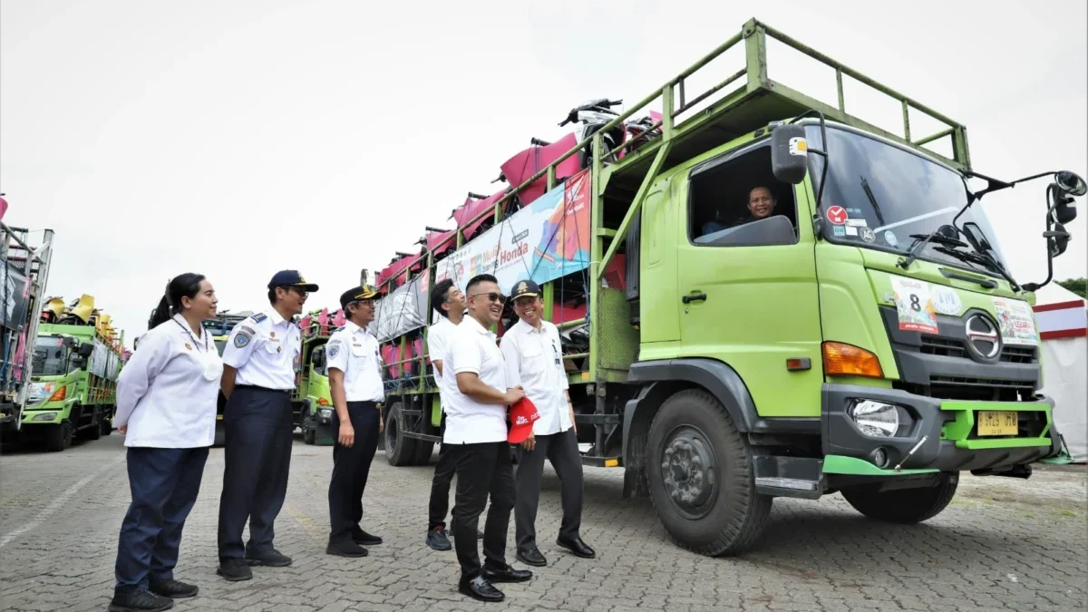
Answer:
<path fill-rule="evenodd" d="M 826 145 L 818 126 L 809 125 L 806 132 L 808 140 L 827 150 L 830 158 L 820 215 L 825 236 L 832 242 L 905 254 L 916 242 L 925 240 L 926 234 L 951 224 L 952 218 L 967 204 L 963 179 L 945 166 L 846 130 L 829 126 Z M 813 185 L 818 192 L 824 158 L 809 157 Z M 1004 261 L 981 203 L 968 208 L 957 224 L 985 238 L 992 246 L 990 255 Z M 962 236 L 959 240 L 967 242 Z M 919 258 L 991 274 L 998 272 L 977 257 L 957 256 L 956 252 L 973 254 L 974 249 L 931 241 Z"/>

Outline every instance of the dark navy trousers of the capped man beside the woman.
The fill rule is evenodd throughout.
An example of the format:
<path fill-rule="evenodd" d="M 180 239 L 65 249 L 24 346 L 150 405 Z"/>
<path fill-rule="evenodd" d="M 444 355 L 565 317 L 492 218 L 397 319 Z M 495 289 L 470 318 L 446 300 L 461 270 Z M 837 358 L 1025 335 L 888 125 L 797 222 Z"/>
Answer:
<path fill-rule="evenodd" d="M 292 434 L 290 396 L 259 387 L 237 387 L 223 411 L 226 433 L 223 494 L 219 500 L 219 558 L 269 552 L 273 524 L 287 495 Z M 249 541 L 242 533 L 249 522 Z"/>

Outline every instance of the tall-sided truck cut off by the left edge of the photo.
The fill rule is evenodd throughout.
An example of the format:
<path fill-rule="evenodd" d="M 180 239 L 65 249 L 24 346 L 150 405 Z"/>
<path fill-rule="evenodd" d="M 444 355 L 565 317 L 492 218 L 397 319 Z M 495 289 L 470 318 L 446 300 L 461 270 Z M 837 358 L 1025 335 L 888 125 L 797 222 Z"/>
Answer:
<path fill-rule="evenodd" d="M 2 196 L 2 194 L 0 194 Z M 0 217 L 8 203 L 0 197 Z M 0 440 L 15 441 L 30 390 L 38 310 L 49 281 L 53 231 L 32 246 L 29 230 L 0 222 Z"/>

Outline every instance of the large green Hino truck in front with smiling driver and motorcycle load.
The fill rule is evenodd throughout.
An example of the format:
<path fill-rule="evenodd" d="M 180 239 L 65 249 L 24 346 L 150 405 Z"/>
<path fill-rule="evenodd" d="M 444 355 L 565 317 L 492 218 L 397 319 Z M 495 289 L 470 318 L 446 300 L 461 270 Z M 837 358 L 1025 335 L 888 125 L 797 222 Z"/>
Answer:
<path fill-rule="evenodd" d="M 771 79 L 768 38 L 829 66 L 838 103 Z M 740 70 L 707 68 L 738 46 Z M 700 76 L 715 85 L 691 97 Z M 846 79 L 901 106 L 900 130 L 846 112 Z M 659 119 L 625 135 L 651 105 Z M 944 127 L 919 137 L 919 115 Z M 648 495 L 702 554 L 752 546 L 776 497 L 841 492 L 915 523 L 963 470 L 1026 478 L 1059 453 L 1029 307 L 1050 279 L 1009 273 L 979 200 L 1019 181 L 974 172 L 962 124 L 755 20 L 631 110 L 586 121 L 565 150 L 534 138 L 515 156 L 535 161 L 523 181 L 470 194 L 456 229 L 428 228 L 379 274 L 390 463 L 425 463 L 440 441 L 429 289 L 481 272 L 505 292 L 543 285 L 583 462 L 623 468 L 625 497 Z M 1052 259 L 1086 187 L 1023 181 L 1042 176 Z M 515 320 L 507 308 L 495 331 Z"/>

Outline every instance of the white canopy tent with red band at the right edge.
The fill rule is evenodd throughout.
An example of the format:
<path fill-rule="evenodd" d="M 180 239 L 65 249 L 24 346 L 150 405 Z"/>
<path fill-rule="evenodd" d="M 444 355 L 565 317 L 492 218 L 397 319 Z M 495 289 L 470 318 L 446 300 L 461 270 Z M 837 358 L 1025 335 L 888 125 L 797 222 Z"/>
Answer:
<path fill-rule="evenodd" d="M 1036 292 L 1035 317 L 1042 358 L 1042 393 L 1056 403 L 1054 425 L 1074 463 L 1088 461 L 1088 308 L 1058 283 Z"/>

